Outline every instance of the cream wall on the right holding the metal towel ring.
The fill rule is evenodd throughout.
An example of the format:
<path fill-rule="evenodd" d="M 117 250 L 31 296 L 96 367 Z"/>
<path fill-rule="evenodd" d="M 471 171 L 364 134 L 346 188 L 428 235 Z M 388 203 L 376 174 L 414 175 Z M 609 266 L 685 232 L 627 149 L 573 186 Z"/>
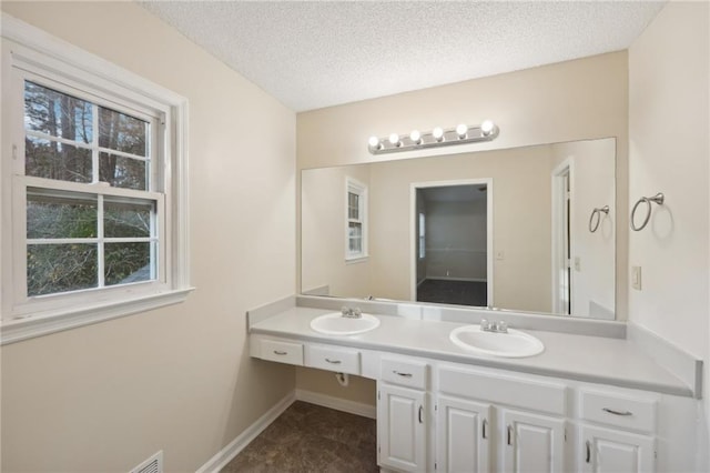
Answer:
<path fill-rule="evenodd" d="M 629 263 L 641 266 L 642 290 L 630 290 L 629 319 L 704 360 L 702 471 L 710 424 L 709 16 L 707 2 L 670 2 L 629 50 L 629 197 L 631 204 L 656 192 L 667 199 L 630 236 Z"/>

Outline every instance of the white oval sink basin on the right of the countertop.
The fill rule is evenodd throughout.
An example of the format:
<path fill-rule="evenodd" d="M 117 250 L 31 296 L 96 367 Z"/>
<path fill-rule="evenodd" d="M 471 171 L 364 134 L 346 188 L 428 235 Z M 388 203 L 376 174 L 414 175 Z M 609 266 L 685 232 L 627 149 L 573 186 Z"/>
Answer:
<path fill-rule="evenodd" d="M 545 350 L 537 338 L 513 329 L 508 329 L 508 333 L 496 333 L 483 331 L 480 325 L 465 325 L 452 330 L 449 339 L 464 350 L 494 356 L 534 356 Z"/>

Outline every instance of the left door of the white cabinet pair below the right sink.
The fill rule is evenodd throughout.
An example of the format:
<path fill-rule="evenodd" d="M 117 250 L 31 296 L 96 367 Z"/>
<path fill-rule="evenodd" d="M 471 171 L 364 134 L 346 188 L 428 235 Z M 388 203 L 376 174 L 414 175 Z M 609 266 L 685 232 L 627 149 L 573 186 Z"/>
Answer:
<path fill-rule="evenodd" d="M 436 413 L 437 471 L 489 471 L 490 404 L 439 395 Z"/>

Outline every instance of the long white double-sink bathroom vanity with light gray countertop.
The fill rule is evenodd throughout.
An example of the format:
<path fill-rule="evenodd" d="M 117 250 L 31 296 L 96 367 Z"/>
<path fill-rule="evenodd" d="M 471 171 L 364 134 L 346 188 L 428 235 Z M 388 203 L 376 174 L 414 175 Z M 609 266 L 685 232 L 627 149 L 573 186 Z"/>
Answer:
<path fill-rule="evenodd" d="M 623 324 L 596 321 L 581 330 L 587 334 L 526 329 L 545 350 L 505 358 L 471 352 L 450 340 L 453 331 L 478 323 L 480 315 L 473 311 L 467 315 L 476 322 L 468 323 L 447 321 L 446 314 L 433 320 L 375 313 L 378 326 L 363 333 L 312 329 L 314 320 L 333 312 L 295 305 L 250 312 L 250 353 L 376 380 L 383 469 L 694 467 L 699 393 L 625 339 L 623 330 L 597 336 Z"/>

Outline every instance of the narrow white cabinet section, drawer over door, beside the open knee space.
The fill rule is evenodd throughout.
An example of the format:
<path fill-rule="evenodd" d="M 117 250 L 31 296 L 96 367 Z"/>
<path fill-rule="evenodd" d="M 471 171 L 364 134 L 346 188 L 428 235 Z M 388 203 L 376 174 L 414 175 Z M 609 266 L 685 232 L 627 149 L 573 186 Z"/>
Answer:
<path fill-rule="evenodd" d="M 383 358 L 377 381 L 378 463 L 403 472 L 428 470 L 427 363 Z"/>

